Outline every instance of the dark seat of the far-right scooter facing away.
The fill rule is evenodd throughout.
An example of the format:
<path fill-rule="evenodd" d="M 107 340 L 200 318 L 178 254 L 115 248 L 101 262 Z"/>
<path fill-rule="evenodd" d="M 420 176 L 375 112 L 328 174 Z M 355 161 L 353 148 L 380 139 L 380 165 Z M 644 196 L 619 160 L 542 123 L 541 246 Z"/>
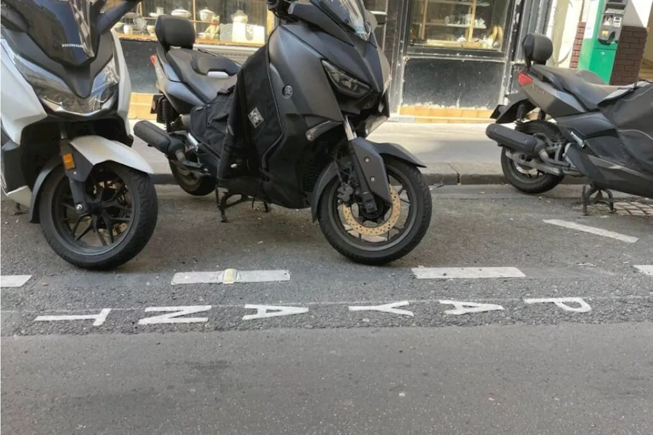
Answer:
<path fill-rule="evenodd" d="M 561 91 L 567 91 L 579 99 L 588 110 L 597 110 L 599 103 L 608 95 L 620 89 L 610 86 L 592 71 L 532 65 L 531 71 L 545 82 Z"/>

